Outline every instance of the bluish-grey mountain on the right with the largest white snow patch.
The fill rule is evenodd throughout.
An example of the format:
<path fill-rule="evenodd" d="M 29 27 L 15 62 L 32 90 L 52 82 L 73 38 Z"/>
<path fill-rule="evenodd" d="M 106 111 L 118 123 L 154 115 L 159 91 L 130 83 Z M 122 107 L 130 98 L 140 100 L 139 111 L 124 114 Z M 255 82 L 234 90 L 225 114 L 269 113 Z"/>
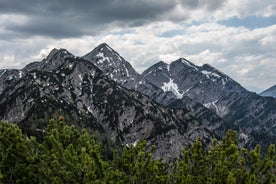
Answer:
<path fill-rule="evenodd" d="M 239 132 L 243 146 L 276 141 L 276 99 L 247 91 L 211 65 L 196 66 L 180 58 L 171 64 L 158 62 L 142 75 L 171 91 L 178 99 L 189 97 L 224 119 L 226 129 Z"/>

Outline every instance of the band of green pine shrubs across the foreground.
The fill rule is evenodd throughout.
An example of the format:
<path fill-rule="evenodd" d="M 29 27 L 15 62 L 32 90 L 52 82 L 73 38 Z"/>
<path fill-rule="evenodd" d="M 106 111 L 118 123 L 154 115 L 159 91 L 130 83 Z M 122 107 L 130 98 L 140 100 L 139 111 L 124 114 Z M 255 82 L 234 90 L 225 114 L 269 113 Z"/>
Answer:
<path fill-rule="evenodd" d="M 200 140 L 169 163 L 154 158 L 145 141 L 112 149 L 88 130 L 50 120 L 42 137 L 27 136 L 15 124 L 0 123 L 0 183 L 276 183 L 275 145 L 238 147 L 229 130 L 205 148 Z"/>

